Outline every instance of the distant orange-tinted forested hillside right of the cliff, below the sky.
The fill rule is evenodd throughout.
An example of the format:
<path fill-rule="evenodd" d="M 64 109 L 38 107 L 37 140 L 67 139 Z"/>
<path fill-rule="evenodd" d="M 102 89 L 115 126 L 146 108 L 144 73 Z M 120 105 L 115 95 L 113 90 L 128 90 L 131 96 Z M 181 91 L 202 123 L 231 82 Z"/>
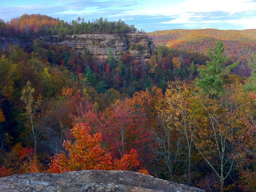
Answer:
<path fill-rule="evenodd" d="M 224 54 L 230 56 L 232 62 L 240 60 L 234 72 L 240 76 L 250 75 L 251 69 L 247 65 L 247 59 L 256 51 L 256 29 L 174 29 L 154 31 L 147 35 L 156 46 L 165 45 L 168 48 L 196 51 L 205 55 L 218 40 L 222 40 L 225 46 Z"/>

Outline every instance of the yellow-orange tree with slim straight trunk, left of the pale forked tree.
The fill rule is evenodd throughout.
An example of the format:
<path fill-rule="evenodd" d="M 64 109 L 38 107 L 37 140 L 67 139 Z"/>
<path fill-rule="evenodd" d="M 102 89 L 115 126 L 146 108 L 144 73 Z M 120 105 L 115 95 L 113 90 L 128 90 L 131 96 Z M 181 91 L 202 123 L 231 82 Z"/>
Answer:
<path fill-rule="evenodd" d="M 195 132 L 199 127 L 204 127 L 207 122 L 202 100 L 204 100 L 203 95 L 197 87 L 186 81 L 176 81 L 175 84 L 169 85 L 165 97 L 156 107 L 161 125 L 163 125 L 162 130 L 167 133 L 166 139 L 169 140 L 169 135 L 172 134 L 166 130 L 166 126 L 171 132 L 178 131 L 185 138 L 188 155 L 188 183 L 191 180 L 191 152 Z M 176 138 L 177 150 L 180 147 L 181 137 Z"/>

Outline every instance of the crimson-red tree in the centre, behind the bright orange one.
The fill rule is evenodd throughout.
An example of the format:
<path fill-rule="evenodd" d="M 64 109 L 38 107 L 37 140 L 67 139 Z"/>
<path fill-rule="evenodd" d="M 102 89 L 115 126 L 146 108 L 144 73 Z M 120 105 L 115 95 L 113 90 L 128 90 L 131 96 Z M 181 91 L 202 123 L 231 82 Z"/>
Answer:
<path fill-rule="evenodd" d="M 144 150 L 150 144 L 152 132 L 145 127 L 144 113 L 137 113 L 129 99 L 116 101 L 103 112 L 103 141 L 108 151 L 117 158 L 135 149 L 142 160 L 146 154 Z M 144 159 L 145 160 L 145 159 Z"/>

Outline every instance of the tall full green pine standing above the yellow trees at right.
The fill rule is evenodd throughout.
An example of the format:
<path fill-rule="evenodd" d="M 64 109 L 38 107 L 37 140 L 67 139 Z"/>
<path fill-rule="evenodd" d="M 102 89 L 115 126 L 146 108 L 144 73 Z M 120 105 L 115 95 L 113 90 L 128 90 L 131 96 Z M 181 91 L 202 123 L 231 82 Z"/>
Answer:
<path fill-rule="evenodd" d="M 206 61 L 206 67 L 198 68 L 200 78 L 197 78 L 198 86 L 207 94 L 213 97 L 219 97 L 223 94 L 224 88 L 222 77 L 226 74 L 225 71 L 231 70 L 237 66 L 238 61 L 224 69 L 224 64 L 229 61 L 229 57 L 224 56 L 224 45 L 222 41 L 218 41 L 216 46 L 207 51 L 211 61 Z"/>

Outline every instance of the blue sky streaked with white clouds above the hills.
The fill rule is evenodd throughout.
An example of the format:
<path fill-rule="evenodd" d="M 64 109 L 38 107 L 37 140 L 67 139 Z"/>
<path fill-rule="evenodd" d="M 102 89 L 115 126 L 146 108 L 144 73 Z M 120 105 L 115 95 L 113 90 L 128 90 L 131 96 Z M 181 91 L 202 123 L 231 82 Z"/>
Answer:
<path fill-rule="evenodd" d="M 71 22 L 122 19 L 146 32 L 170 29 L 255 29 L 256 0 L 0 0 L 0 18 L 41 14 Z"/>

